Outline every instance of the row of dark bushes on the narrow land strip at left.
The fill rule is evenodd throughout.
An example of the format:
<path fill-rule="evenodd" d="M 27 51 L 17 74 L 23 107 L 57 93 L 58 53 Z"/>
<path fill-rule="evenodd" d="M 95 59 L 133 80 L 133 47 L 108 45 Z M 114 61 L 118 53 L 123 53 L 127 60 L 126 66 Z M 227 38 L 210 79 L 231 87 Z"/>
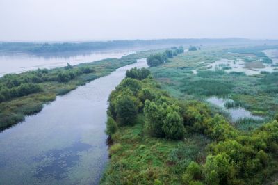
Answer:
<path fill-rule="evenodd" d="M 56 81 L 60 83 L 68 82 L 81 74 L 94 72 L 92 67 L 66 67 L 58 70 L 38 69 L 22 74 L 6 74 L 0 78 L 0 103 L 22 97 L 32 93 L 43 91 L 40 83 Z"/>

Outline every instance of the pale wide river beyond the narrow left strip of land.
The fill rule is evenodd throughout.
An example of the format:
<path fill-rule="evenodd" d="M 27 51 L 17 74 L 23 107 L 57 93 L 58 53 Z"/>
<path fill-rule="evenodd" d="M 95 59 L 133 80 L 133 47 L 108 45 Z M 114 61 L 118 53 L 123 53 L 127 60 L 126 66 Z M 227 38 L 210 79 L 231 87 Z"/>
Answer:
<path fill-rule="evenodd" d="M 0 77 L 8 73 L 26 72 L 29 70 L 36 70 L 38 68 L 51 69 L 54 67 L 63 67 L 67 65 L 67 63 L 70 63 L 70 65 L 77 65 L 79 63 L 99 61 L 104 58 L 121 58 L 122 56 L 132 54 L 135 51 L 140 51 L 140 49 L 98 51 L 84 54 L 76 53 L 74 55 L 63 54 L 56 56 L 0 54 Z"/>

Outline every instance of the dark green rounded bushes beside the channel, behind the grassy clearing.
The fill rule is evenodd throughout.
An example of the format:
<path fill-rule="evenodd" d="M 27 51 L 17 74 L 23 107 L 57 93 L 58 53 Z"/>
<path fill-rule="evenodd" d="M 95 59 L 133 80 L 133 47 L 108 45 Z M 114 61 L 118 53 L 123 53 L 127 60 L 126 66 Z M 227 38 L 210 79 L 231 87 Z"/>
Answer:
<path fill-rule="evenodd" d="M 145 74 L 145 69 L 133 68 L 126 72 L 126 78 L 109 97 L 108 115 L 117 122 L 117 127 L 121 127 L 133 124 L 137 114 L 144 113 L 145 127 L 151 136 L 183 138 L 184 127 L 180 107 L 173 99 L 165 97 L 161 90 L 156 89 L 153 79 L 138 78 L 141 77 L 140 72 Z M 111 118 L 107 122 L 106 133 L 109 135 L 115 130 L 110 129 Z"/>

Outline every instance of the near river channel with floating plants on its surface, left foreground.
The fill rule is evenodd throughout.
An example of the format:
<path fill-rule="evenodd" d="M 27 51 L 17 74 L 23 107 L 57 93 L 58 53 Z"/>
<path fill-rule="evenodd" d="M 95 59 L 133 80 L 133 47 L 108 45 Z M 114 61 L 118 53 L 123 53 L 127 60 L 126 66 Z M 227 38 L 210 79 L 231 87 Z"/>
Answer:
<path fill-rule="evenodd" d="M 108 161 L 106 109 L 131 67 L 87 83 L 0 133 L 0 184 L 98 184 Z"/>

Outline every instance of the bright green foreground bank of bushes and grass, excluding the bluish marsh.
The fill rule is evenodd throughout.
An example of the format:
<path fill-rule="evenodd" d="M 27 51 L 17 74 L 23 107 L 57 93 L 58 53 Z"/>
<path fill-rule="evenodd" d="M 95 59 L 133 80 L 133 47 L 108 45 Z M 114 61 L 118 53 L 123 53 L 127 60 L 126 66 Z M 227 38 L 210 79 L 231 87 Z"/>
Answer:
<path fill-rule="evenodd" d="M 277 172 L 277 120 L 245 134 L 202 102 L 173 99 L 150 76 L 124 79 L 108 115 L 114 144 L 104 184 L 261 184 Z M 192 134 L 209 140 L 203 159 L 183 140 Z"/>

